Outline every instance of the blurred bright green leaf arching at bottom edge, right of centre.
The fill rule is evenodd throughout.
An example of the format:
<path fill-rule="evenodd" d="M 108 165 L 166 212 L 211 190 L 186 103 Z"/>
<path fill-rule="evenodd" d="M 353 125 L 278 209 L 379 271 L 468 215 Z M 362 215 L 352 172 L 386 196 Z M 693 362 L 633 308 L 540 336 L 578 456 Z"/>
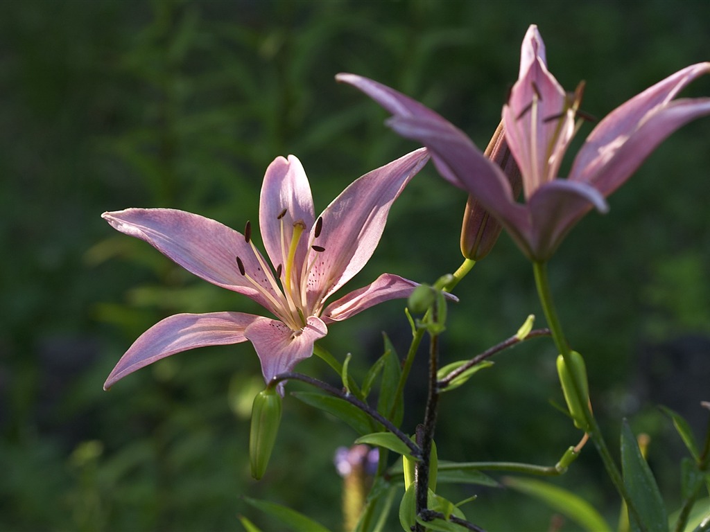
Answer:
<path fill-rule="evenodd" d="M 567 489 L 542 480 L 505 477 L 503 484 L 544 502 L 589 532 L 611 530 L 591 504 Z"/>

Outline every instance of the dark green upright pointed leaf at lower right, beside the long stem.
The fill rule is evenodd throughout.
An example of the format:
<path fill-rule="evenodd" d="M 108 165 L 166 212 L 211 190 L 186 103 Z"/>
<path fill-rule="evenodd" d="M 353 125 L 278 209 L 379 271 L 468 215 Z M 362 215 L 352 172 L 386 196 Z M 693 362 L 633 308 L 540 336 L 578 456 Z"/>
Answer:
<path fill-rule="evenodd" d="M 629 523 L 632 528 L 638 530 L 643 526 L 649 532 L 667 531 L 668 516 L 663 506 L 663 499 L 626 419 L 623 420 L 621 427 L 621 470 L 628 496 L 642 521 L 636 522 L 635 516 L 629 513 Z"/>

